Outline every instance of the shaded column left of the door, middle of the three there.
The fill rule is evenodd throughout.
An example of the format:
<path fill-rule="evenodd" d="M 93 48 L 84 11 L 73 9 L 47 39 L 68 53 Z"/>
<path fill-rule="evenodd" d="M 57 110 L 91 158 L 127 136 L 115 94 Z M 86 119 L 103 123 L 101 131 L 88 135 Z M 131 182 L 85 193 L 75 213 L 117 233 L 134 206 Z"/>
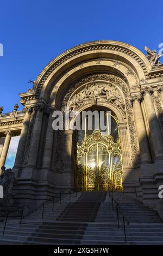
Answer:
<path fill-rule="evenodd" d="M 34 123 L 34 128 L 32 131 L 32 138 L 29 150 L 28 157 L 28 166 L 35 166 L 37 162 L 37 153 L 39 150 L 39 142 L 40 142 L 40 134 L 41 134 L 41 125 L 42 125 L 42 117 L 43 117 L 43 108 L 39 106 L 36 108 L 36 118 Z"/>

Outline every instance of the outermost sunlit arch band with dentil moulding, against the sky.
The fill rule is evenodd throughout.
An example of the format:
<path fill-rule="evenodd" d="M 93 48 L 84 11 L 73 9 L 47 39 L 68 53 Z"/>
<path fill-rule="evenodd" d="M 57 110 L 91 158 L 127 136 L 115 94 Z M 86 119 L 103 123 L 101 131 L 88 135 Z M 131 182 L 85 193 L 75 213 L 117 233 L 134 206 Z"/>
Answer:
<path fill-rule="evenodd" d="M 139 80 L 148 77 L 151 64 L 148 59 L 135 47 L 118 41 L 92 41 L 81 44 L 65 51 L 54 58 L 45 69 L 42 70 L 34 84 L 34 92 L 40 94 L 48 86 L 49 78 L 57 78 L 62 72 L 77 66 L 78 63 L 87 62 L 89 59 L 112 58 L 122 61 L 134 70 Z M 53 80 L 53 79 L 52 79 Z M 53 80 L 54 82 L 54 80 Z M 42 92 L 41 92 L 42 95 Z"/>

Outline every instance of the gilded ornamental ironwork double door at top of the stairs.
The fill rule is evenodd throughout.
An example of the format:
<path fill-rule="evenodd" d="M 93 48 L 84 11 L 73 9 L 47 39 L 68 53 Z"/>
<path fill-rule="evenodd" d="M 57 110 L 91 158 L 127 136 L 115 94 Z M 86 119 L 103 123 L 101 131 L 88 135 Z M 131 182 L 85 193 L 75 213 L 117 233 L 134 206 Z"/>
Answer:
<path fill-rule="evenodd" d="M 77 191 L 122 191 L 122 157 L 120 140 L 103 136 L 95 130 L 77 145 Z"/>

